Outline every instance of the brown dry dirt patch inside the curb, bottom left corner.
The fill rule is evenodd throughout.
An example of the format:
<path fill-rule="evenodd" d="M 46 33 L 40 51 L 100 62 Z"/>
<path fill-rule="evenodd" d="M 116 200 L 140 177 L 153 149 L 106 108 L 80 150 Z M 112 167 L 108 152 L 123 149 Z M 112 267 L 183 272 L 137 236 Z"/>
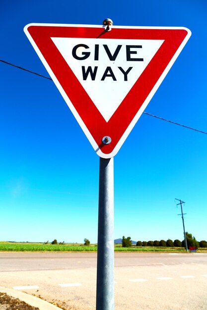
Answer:
<path fill-rule="evenodd" d="M 0 310 L 39 310 L 39 308 L 32 307 L 6 293 L 0 293 Z"/>

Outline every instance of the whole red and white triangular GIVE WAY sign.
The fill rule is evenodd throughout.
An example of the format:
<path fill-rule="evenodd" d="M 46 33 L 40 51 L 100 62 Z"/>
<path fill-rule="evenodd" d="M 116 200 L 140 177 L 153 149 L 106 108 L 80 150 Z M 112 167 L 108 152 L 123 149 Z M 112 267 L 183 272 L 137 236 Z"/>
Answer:
<path fill-rule="evenodd" d="M 28 24 L 24 32 L 95 152 L 111 158 L 191 32 L 184 27 L 104 27 Z"/>

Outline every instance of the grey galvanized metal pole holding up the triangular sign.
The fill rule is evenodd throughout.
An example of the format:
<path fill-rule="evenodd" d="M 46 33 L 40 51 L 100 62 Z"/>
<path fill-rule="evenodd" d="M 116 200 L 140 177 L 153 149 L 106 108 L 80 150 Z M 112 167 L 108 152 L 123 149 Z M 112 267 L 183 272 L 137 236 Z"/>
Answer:
<path fill-rule="evenodd" d="M 114 310 L 113 157 L 100 157 L 96 310 Z"/>

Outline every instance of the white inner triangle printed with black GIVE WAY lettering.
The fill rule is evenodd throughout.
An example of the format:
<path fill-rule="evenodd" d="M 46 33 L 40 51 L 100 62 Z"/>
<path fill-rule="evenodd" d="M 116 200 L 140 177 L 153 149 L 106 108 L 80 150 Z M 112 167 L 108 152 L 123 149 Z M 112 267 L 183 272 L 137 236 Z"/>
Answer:
<path fill-rule="evenodd" d="M 164 40 L 51 39 L 106 122 L 164 42 Z"/>

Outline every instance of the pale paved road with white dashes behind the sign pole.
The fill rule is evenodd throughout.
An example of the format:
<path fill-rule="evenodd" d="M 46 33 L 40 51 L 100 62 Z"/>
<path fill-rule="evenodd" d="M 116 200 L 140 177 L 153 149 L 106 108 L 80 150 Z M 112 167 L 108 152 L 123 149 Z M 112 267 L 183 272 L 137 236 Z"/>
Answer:
<path fill-rule="evenodd" d="M 95 309 L 95 253 L 0 253 L 0 286 Z M 207 310 L 207 254 L 115 253 L 116 310 Z"/>

